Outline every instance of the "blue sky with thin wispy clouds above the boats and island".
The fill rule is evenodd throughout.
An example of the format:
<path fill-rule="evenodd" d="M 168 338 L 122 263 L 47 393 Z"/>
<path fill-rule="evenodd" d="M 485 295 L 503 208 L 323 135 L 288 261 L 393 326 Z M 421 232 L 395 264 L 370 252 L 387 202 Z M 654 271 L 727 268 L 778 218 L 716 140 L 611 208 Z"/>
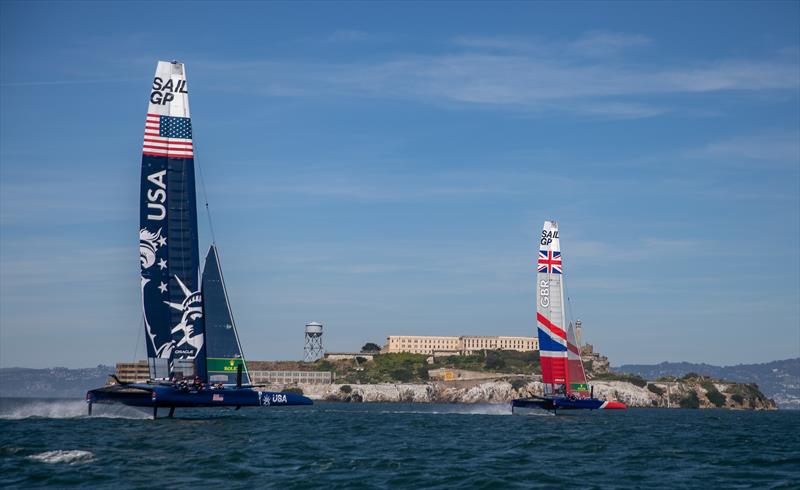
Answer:
<path fill-rule="evenodd" d="M 542 221 L 612 364 L 800 355 L 800 4 L 0 4 L 0 365 L 143 357 L 159 59 L 252 359 L 533 335 Z M 201 215 L 201 237 L 208 243 Z M 202 247 L 202 245 L 201 245 Z"/>

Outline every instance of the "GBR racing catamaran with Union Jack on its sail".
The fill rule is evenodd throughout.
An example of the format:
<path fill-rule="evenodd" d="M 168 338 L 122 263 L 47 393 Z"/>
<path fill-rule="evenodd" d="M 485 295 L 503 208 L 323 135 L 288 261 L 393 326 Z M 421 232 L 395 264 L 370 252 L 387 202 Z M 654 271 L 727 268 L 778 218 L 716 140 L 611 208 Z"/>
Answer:
<path fill-rule="evenodd" d="M 536 322 L 544 395 L 511 402 L 512 412 L 623 409 L 624 403 L 598 400 L 586 383 L 580 346 L 564 311 L 564 257 L 558 223 L 545 221 L 536 272 Z"/>

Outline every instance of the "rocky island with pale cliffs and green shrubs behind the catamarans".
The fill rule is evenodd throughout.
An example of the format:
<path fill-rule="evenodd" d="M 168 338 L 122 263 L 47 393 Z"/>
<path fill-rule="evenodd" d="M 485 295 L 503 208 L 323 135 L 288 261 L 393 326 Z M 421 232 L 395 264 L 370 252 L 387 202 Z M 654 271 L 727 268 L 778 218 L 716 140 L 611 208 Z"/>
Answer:
<path fill-rule="evenodd" d="M 734 383 L 688 373 L 646 380 L 609 370 L 608 359 L 587 345 L 583 351 L 589 383 L 598 398 L 629 407 L 774 410 L 775 402 L 755 384 Z M 295 389 L 315 400 L 343 402 L 508 403 L 541 395 L 538 352 L 485 351 L 433 358 L 380 354 L 305 363 L 250 363 L 251 369 L 333 371 L 333 384 L 274 386 Z"/>

